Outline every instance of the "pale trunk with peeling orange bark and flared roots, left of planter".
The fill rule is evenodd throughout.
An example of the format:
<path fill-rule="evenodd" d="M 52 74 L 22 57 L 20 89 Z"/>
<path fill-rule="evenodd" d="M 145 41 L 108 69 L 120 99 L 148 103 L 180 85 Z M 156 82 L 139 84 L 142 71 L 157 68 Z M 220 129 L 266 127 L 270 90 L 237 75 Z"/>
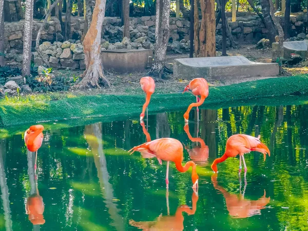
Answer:
<path fill-rule="evenodd" d="M 84 39 L 84 53 L 86 70 L 79 88 L 98 87 L 101 82 L 104 87 L 110 87 L 109 81 L 103 73 L 101 61 L 101 34 L 105 16 L 106 0 L 97 0 L 95 3 L 92 22 Z"/>

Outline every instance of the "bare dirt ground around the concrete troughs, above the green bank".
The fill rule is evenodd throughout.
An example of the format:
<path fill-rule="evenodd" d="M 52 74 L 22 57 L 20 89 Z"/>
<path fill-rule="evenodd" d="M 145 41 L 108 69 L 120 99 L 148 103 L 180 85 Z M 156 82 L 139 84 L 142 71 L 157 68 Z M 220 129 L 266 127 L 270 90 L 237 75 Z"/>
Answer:
<path fill-rule="evenodd" d="M 241 45 L 239 49 L 227 50 L 228 55 L 243 55 L 247 59 L 254 62 L 271 63 L 272 62 L 272 49 L 261 49 L 257 50 L 254 48 L 255 45 Z M 220 56 L 221 52 L 217 52 L 217 56 Z M 189 57 L 188 53 L 177 54 L 169 52 L 167 54 L 166 67 L 173 68 L 174 60 Z M 308 68 L 303 67 L 285 67 L 285 75 L 297 75 L 308 73 Z M 147 70 L 148 71 L 148 70 Z M 106 77 L 109 79 L 112 87 L 110 89 L 93 90 L 93 93 L 109 93 L 109 94 L 133 94 L 140 88 L 140 78 L 146 76 L 147 71 L 134 72 L 134 73 L 110 73 L 105 71 Z M 55 75 L 63 76 L 81 76 L 82 71 L 80 70 L 54 70 Z M 275 78 L 275 77 L 273 77 Z M 253 81 L 263 79 L 262 77 L 245 78 L 245 79 L 232 79 L 225 81 L 208 81 L 209 86 L 225 86 L 230 84 L 236 84 L 246 81 Z M 156 83 L 157 93 L 171 93 L 183 90 L 184 87 L 189 83 L 188 80 L 176 79 L 173 74 L 167 74 L 162 82 Z M 98 92 L 99 91 L 99 92 Z"/>

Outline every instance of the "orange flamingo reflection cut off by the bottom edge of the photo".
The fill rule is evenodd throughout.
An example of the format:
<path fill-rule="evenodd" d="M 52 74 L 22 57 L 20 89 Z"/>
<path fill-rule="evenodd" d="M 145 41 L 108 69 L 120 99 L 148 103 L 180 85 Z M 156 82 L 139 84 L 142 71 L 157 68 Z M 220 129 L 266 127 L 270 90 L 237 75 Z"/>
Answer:
<path fill-rule="evenodd" d="M 168 191 L 167 191 L 168 194 Z M 167 201 L 168 201 L 168 196 Z M 169 213 L 167 216 L 162 216 L 162 214 L 157 218 L 156 221 L 133 221 L 130 220 L 129 224 L 143 230 L 159 230 L 159 231 L 169 231 L 175 230 L 180 231 L 184 230 L 184 216 L 183 212 L 188 215 L 194 215 L 197 209 L 197 201 L 198 195 L 193 192 L 191 196 L 192 201 L 192 208 L 188 207 L 187 205 L 180 205 L 177 208 L 176 214 L 174 216 L 170 216 Z M 169 206 L 167 204 L 167 210 L 169 211 Z"/>

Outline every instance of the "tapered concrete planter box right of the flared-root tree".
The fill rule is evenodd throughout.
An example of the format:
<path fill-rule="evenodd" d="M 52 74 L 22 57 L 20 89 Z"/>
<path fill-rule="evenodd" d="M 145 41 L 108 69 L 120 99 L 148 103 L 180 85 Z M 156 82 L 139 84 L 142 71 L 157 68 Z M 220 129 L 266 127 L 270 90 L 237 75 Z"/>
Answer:
<path fill-rule="evenodd" d="M 104 70 L 130 73 L 145 70 L 153 50 L 104 50 L 101 54 Z"/>

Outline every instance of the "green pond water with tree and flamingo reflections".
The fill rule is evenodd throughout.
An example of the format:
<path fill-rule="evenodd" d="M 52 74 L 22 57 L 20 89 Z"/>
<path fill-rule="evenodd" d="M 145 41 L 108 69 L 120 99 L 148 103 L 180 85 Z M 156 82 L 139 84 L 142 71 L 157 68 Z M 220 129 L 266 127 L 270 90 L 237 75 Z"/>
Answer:
<path fill-rule="evenodd" d="M 185 128 L 183 113 L 149 115 L 147 137 L 138 117 L 45 130 L 36 175 L 23 135 L 2 139 L 0 229 L 308 230 L 308 106 L 201 109 L 199 124 L 195 110 Z M 245 155 L 246 181 L 238 157 L 219 164 L 218 175 L 210 169 L 236 133 L 260 134 L 271 150 L 265 162 Z M 180 140 L 184 161 L 197 162 L 198 196 L 190 171 L 171 163 L 166 195 L 166 163 L 128 155 L 162 137 Z"/>

